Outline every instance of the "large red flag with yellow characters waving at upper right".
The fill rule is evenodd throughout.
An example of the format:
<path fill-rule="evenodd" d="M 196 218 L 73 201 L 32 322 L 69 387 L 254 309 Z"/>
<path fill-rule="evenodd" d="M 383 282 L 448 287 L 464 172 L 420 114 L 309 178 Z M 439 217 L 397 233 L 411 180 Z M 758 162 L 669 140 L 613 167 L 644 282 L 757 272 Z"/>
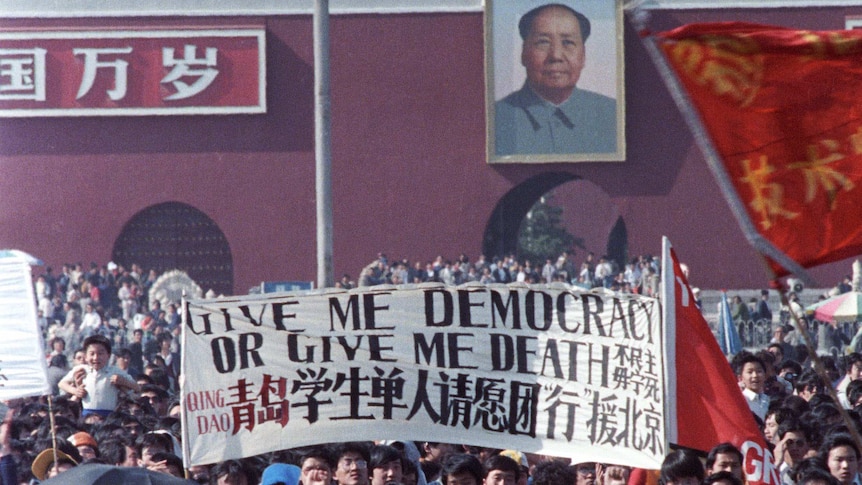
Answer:
<path fill-rule="evenodd" d="M 805 268 L 862 253 L 862 31 L 692 24 L 657 42 L 751 226 Z"/>

